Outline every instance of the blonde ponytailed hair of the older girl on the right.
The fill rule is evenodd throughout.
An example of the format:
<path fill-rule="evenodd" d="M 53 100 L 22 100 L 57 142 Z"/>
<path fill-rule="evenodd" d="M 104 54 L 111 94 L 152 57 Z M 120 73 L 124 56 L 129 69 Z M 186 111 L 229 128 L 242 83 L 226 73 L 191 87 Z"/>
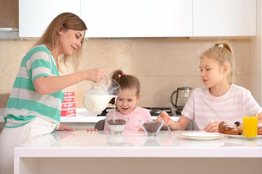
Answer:
<path fill-rule="evenodd" d="M 235 83 L 236 63 L 234 58 L 234 51 L 232 46 L 228 42 L 221 41 L 215 44 L 213 47 L 204 51 L 200 59 L 202 59 L 204 56 L 208 56 L 209 58 L 215 59 L 219 62 L 221 66 L 223 66 L 224 64 L 228 64 L 229 74 L 227 76 L 227 81 L 230 85 Z"/>

